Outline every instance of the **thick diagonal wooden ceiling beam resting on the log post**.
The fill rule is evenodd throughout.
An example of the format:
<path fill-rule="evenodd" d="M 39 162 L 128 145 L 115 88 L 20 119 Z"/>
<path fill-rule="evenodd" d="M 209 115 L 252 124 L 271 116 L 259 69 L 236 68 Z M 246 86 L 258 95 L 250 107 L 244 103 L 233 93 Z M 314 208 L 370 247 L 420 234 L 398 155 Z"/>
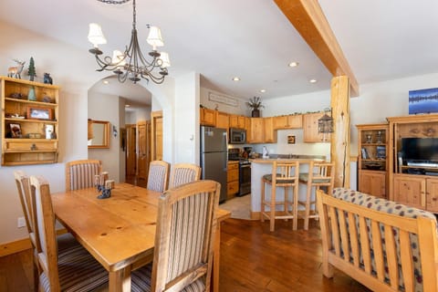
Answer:
<path fill-rule="evenodd" d="M 317 54 L 333 77 L 349 77 L 350 96 L 359 96 L 359 84 L 317 0 L 274 0 L 290 23 Z"/>

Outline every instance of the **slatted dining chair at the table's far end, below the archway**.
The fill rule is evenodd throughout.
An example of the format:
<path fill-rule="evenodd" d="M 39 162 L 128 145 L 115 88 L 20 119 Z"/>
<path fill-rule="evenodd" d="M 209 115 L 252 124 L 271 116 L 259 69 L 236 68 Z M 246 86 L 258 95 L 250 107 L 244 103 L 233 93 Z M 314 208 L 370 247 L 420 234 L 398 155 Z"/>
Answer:
<path fill-rule="evenodd" d="M 98 160 L 78 160 L 66 163 L 66 191 L 94 186 L 94 176 L 102 172 Z"/>

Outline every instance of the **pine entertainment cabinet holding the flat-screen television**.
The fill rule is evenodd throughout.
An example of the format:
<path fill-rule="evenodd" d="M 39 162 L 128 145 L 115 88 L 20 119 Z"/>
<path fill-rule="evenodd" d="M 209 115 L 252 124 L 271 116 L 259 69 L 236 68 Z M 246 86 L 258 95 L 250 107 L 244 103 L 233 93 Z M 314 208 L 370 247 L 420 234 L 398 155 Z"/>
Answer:
<path fill-rule="evenodd" d="M 438 213 L 438 115 L 387 120 L 389 199 Z"/>

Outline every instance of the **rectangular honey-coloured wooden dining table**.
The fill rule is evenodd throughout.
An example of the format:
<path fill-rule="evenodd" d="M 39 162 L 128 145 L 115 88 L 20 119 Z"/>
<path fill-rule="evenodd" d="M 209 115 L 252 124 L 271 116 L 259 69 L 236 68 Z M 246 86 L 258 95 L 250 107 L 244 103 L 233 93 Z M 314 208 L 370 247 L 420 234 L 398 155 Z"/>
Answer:
<path fill-rule="evenodd" d="M 110 275 L 110 291 L 130 291 L 130 271 L 151 262 L 160 193 L 117 183 L 107 199 L 96 188 L 53 193 L 57 220 Z M 230 217 L 218 209 L 214 238 L 213 291 L 219 291 L 220 226 Z"/>

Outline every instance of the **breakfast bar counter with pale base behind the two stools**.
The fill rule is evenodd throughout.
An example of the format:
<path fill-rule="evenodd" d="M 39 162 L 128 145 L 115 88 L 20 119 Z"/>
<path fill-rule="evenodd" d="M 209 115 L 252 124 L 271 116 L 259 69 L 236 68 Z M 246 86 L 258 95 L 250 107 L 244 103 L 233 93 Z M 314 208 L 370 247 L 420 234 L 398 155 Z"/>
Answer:
<path fill-rule="evenodd" d="M 308 164 L 310 162 L 324 162 L 325 157 L 321 155 L 294 155 L 294 158 L 289 155 L 282 155 L 276 158 L 255 158 L 251 159 L 251 218 L 260 218 L 261 205 L 261 179 L 265 174 L 272 172 L 273 162 L 299 162 L 299 172 L 308 172 Z M 299 184 L 298 197 L 300 201 L 306 200 L 307 186 Z M 265 192 L 270 193 L 271 187 L 266 184 Z M 291 191 L 289 191 L 291 192 Z M 277 188 L 276 195 L 282 199 L 284 197 L 284 189 Z M 277 206 L 278 210 L 282 210 L 282 206 Z"/>

